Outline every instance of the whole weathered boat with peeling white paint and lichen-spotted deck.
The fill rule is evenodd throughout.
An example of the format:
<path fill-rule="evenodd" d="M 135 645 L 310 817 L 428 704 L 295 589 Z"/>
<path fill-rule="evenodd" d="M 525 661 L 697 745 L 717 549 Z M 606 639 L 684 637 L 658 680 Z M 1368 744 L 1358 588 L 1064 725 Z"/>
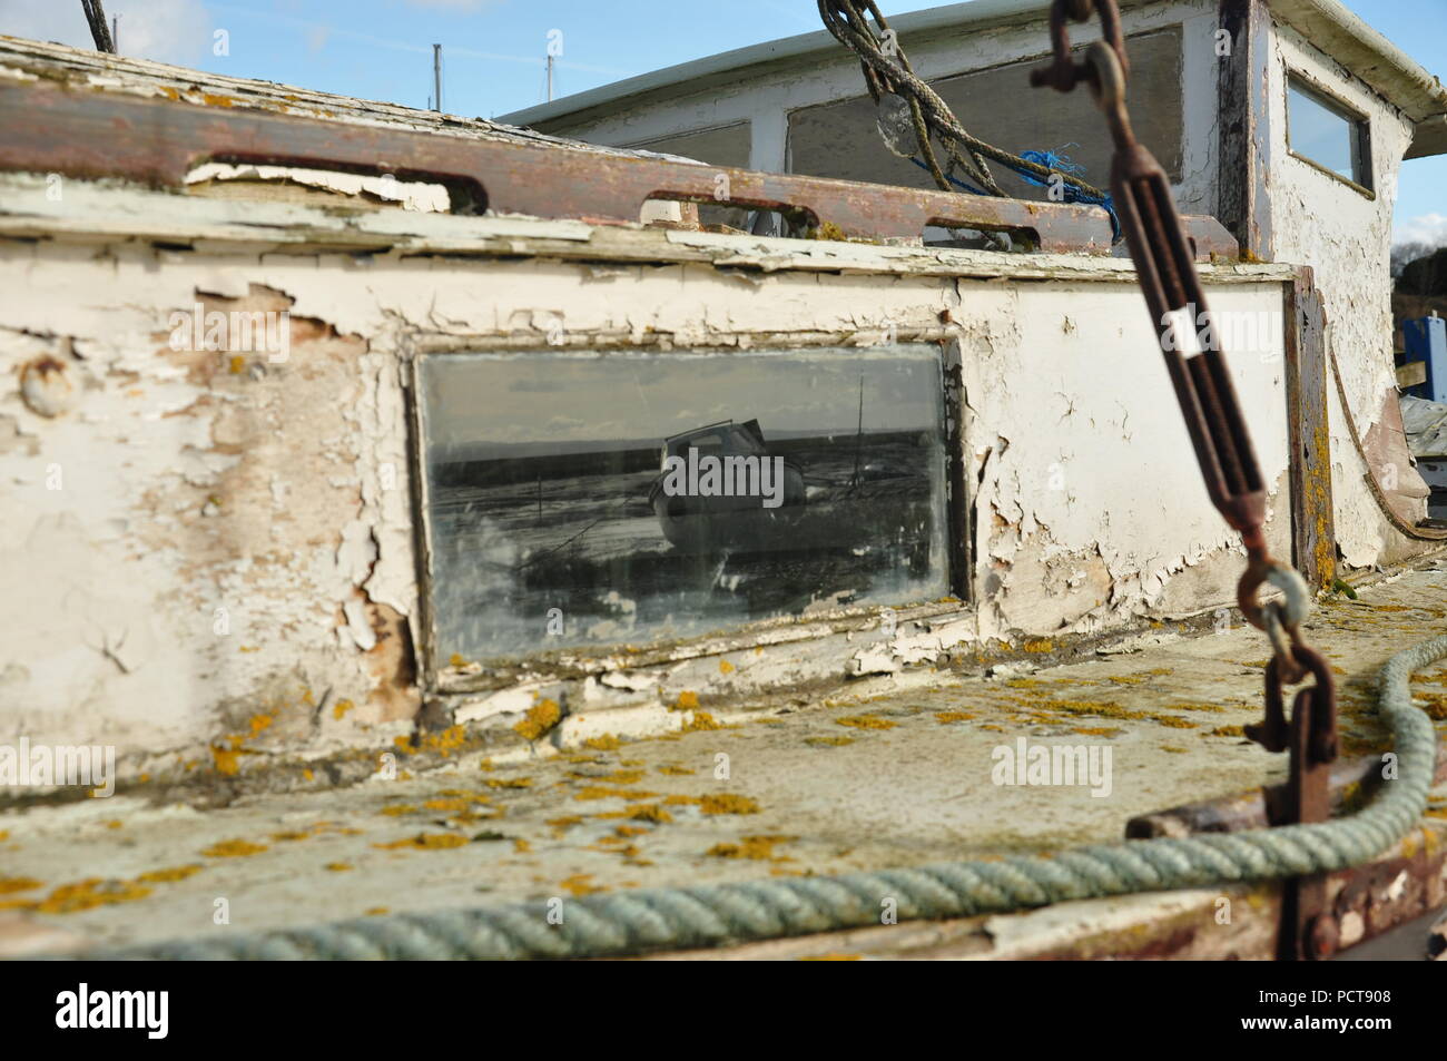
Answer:
<path fill-rule="evenodd" d="M 983 135 L 1079 139 L 1077 162 L 1104 174 L 1111 152 L 1088 93 L 1019 104 L 1059 7 L 980 0 L 901 17 L 899 41 L 961 113 L 1000 123 L 977 124 Z M 1213 384 L 1240 395 L 1255 440 L 1250 492 L 1263 523 L 1250 547 L 1289 557 L 1321 595 L 1406 572 L 1375 612 L 1366 588 L 1365 602 L 1328 599 L 1331 628 L 1312 631 L 1323 646 L 1337 635 L 1341 669 L 1365 680 L 1386 656 L 1383 638 L 1354 633 L 1367 615 L 1373 633 L 1395 635 L 1393 650 L 1420 640 L 1392 628 L 1393 615 L 1440 617 L 1433 593 L 1444 576 L 1430 565 L 1447 538 L 1425 520 L 1427 486 L 1402 430 L 1386 252 L 1404 158 L 1447 152 L 1447 91 L 1336 0 L 1143 0 L 1119 12 L 1116 29 L 1133 56 L 1134 127 L 1160 156 L 1156 190 L 1189 211 L 1171 261 L 1195 259 L 1197 294 L 1246 336 L 1227 344 Z M 757 815 L 751 837 L 719 837 L 725 851 L 796 834 L 818 844 L 799 861 L 809 876 L 771 889 L 1059 851 L 1119 835 L 1127 811 L 1169 818 L 1159 835 L 1178 845 L 1192 829 L 1278 824 L 1260 798 L 1275 760 L 1240 741 L 1242 724 L 1260 717 L 1259 664 L 1246 660 L 1269 651 L 1233 611 L 1243 546 L 1210 486 L 1187 472 L 1189 428 L 1162 415 L 1159 316 L 1142 313 L 1142 274 L 1111 256 L 1110 217 L 1037 187 L 1024 190 L 1033 201 L 920 187 L 907 161 L 873 142 L 858 61 L 832 35 L 713 56 L 512 124 L 16 38 L 0 39 L 0 580 L 14 620 L 0 638 L 0 740 L 113 748 L 117 790 L 148 799 L 368 782 L 363 799 L 381 802 L 412 776 L 427 783 L 430 766 L 501 769 L 485 799 L 518 829 L 506 855 L 566 858 L 547 880 L 563 882 L 569 909 L 618 895 L 589 897 L 602 889 L 697 880 L 702 844 L 674 838 L 719 825 L 705 802 Z M 1312 124 L 1333 130 L 1331 151 L 1304 136 Z M 807 216 L 812 237 L 708 230 L 709 211 L 745 210 Z M 952 229 L 1011 233 L 1027 252 L 929 246 Z M 213 317 L 229 324 L 217 343 Z M 258 318 L 269 327 L 249 326 Z M 719 385 L 748 375 L 739 389 L 774 404 L 738 407 L 794 426 L 797 384 L 774 373 L 802 378 L 828 359 L 848 362 L 839 379 L 864 363 L 887 376 L 871 408 L 900 431 L 878 444 L 919 475 L 891 479 L 913 508 L 878 504 L 881 525 L 867 531 L 901 541 L 897 559 L 881 570 L 883 550 L 844 560 L 832 550 L 816 563 L 794 551 L 757 578 L 773 591 L 758 606 L 718 601 L 709 565 L 655 563 L 647 550 L 664 551 L 661 517 L 640 501 L 670 430 L 660 421 L 715 407 Z M 648 386 L 673 389 L 650 407 Z M 648 408 L 658 420 L 641 426 Z M 703 444 L 690 434 L 693 449 Z M 731 426 L 726 441 L 739 456 L 781 456 L 757 424 Z M 670 437 L 664 459 L 686 457 L 689 444 Z M 437 470 L 457 453 L 508 475 L 464 483 L 489 491 L 480 498 L 449 495 Z M 815 475 L 823 466 L 805 463 Z M 868 465 L 852 455 L 849 465 L 854 483 L 884 494 Z M 650 505 L 658 494 L 648 489 Z M 784 504 L 758 499 L 754 511 L 774 521 L 828 511 L 803 498 L 803 473 L 790 485 L 786 469 Z M 739 512 L 690 511 L 693 501 L 683 521 L 738 525 Z M 528 578 L 556 570 L 561 580 L 518 593 L 515 559 L 544 534 L 556 563 Z M 583 560 L 596 580 L 579 576 Z M 686 566 L 697 579 L 673 585 Z M 660 569 L 676 601 L 660 592 Z M 832 579 L 822 592 L 820 572 Z M 699 628 L 683 628 L 682 614 Z M 1191 638 L 1204 631 L 1213 637 Z M 1127 666 L 1132 653 L 1139 664 Z M 1026 676 L 1066 664 L 1078 669 Z M 1323 672 L 1317 680 L 1330 680 Z M 1217 686 L 1247 685 L 1243 673 L 1252 699 L 1215 702 Z M 1110 699 L 1087 699 L 1084 686 Z M 835 689 L 857 698 L 851 714 L 825 711 Z M 870 702 L 875 693 L 900 702 Z M 926 698 L 942 709 L 920 711 Z M 774 766 L 751 750 L 750 770 L 722 779 L 709 741 L 750 737 L 725 712 L 776 722 L 797 747 Z M 1111 725 L 1081 725 L 1097 719 Z M 809 735 L 783 728 L 815 722 Z M 915 757 L 884 744 L 917 730 L 926 738 Z M 1064 783 L 996 782 L 996 745 L 1024 731 L 1129 754 L 1108 809 Z M 669 812 L 625 809 L 644 798 L 628 774 L 609 774 L 618 787 L 599 792 L 579 772 L 547 773 L 563 766 L 560 751 L 615 756 L 657 734 L 670 741 L 637 754 L 679 756 L 647 764 Z M 1375 754 L 1379 738 L 1344 725 L 1341 747 Z M 379 760 L 402 780 L 378 776 Z M 1404 777 L 1425 783 L 1428 753 L 1402 760 Z M 796 782 L 829 777 L 831 763 L 852 783 L 800 795 Z M 1189 785 L 1168 796 L 1176 779 Z M 559 825 L 546 798 L 606 806 L 596 818 L 608 821 Z M 1172 800 L 1178 812 L 1159 811 Z M 472 808 L 425 819 L 443 832 L 396 835 L 407 819 L 392 812 L 424 806 L 368 811 L 373 832 L 357 841 L 360 858 L 388 864 L 453 860 L 418 876 L 408 902 L 478 903 L 479 879 L 496 887 L 489 903 L 537 892 L 531 867 L 508 876 L 505 845 L 470 842 L 482 838 L 467 828 Z M 621 813 L 627 827 L 612 821 Z M 693 816 L 671 828 L 673 815 Z M 26 841 L 16 870 L 36 882 L 129 879 L 135 853 L 96 818 L 78 832 L 84 868 L 52 871 L 42 861 L 56 845 L 27 842 L 49 827 L 22 808 L 6 821 Z M 1366 863 L 1378 877 L 1317 880 L 1334 905 L 1320 910 L 1330 932 L 1312 934 L 1314 945 L 1349 948 L 1443 905 L 1447 819 L 1412 806 L 1393 821 L 1414 832 L 1398 831 Z M 619 828 L 635 841 L 627 861 L 599 840 L 625 840 Z M 389 842 L 373 842 L 381 829 Z M 268 834 L 258 825 L 256 835 Z M 220 851 L 200 883 L 172 880 L 119 912 L 97 903 L 72 923 L 106 944 L 205 935 L 208 947 L 240 950 L 250 937 L 210 916 L 213 882 L 232 887 L 221 874 L 236 866 L 260 867 L 240 882 L 252 937 L 297 916 L 375 913 L 375 899 L 328 890 L 337 874 L 320 858 L 279 861 L 308 844 L 216 840 L 195 845 L 208 858 Z M 101 844 L 111 847 L 93 854 Z M 653 858 L 632 857 L 635 845 Z M 256 857 L 230 858 L 237 847 Z M 726 884 L 760 868 L 750 857 L 705 861 Z M 443 892 L 444 877 L 466 892 Z M 266 880 L 292 890 L 268 892 Z M 926 897 L 941 895 L 939 880 Z M 1032 932 L 1040 921 L 1001 906 L 996 889 L 923 916 L 974 932 L 968 952 L 988 957 L 1272 957 L 1279 926 L 1305 938 L 1302 923 L 1286 925 L 1279 880 L 1213 877 L 1211 889 L 1163 899 L 1152 893 L 1159 880 L 1147 883 L 1119 896 L 1120 928 L 1106 934 L 1074 902 Z M 919 939 L 875 923 L 880 896 L 860 895 L 846 928 L 871 925 L 884 951 Z M 1301 895 L 1289 909 L 1304 909 Z M 181 899 L 204 916 L 178 919 Z M 1234 902 L 1230 925 L 1221 900 Z M 42 905 L 26 915 L 51 916 Z M 922 916 L 899 908 L 900 923 Z M 990 912 L 988 926 L 971 921 Z M 411 947 L 420 923 L 379 932 L 386 954 Z M 708 941 L 742 938 L 754 937 Z"/>

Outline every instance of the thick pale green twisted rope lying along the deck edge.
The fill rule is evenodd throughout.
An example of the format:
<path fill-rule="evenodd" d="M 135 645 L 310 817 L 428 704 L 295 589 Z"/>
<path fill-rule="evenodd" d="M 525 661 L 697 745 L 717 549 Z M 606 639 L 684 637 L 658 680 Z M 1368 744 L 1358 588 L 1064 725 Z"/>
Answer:
<path fill-rule="evenodd" d="M 724 947 L 899 921 L 968 918 L 1101 896 L 1215 887 L 1350 868 L 1382 854 L 1427 808 L 1437 737 L 1411 705 L 1408 677 L 1447 657 L 1447 637 L 1382 669 L 1378 712 L 1398 776 L 1359 813 L 1331 822 L 1082 847 L 1053 857 L 946 863 L 836 877 L 618 892 L 443 913 L 362 918 L 314 928 L 217 935 L 78 955 L 84 960 L 519 960 L 595 958 Z M 557 915 L 561 915 L 560 923 Z M 551 915 L 551 916 L 550 916 Z"/>

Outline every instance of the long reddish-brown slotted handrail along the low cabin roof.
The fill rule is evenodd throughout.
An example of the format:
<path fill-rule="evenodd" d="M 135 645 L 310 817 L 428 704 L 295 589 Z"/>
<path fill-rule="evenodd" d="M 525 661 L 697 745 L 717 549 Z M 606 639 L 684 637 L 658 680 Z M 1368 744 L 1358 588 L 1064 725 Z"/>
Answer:
<path fill-rule="evenodd" d="M 920 239 L 941 226 L 1020 233 L 1046 252 L 1110 252 L 1110 220 L 1097 207 L 760 174 L 46 81 L 0 88 L 0 171 L 169 190 L 182 190 L 204 162 L 292 165 L 437 181 L 453 193 L 454 211 L 462 201 L 473 213 L 621 224 L 637 223 L 654 198 L 773 210 L 846 239 Z M 1215 219 L 1192 217 L 1187 227 L 1198 258 L 1236 258 L 1236 240 Z"/>

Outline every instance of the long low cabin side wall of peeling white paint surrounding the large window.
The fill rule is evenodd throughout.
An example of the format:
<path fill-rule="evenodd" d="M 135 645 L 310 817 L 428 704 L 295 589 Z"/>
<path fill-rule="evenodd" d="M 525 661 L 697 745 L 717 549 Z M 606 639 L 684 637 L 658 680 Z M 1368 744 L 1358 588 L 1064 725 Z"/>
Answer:
<path fill-rule="evenodd" d="M 884 641 L 868 614 L 826 614 L 676 646 L 645 670 L 602 657 L 580 663 L 592 677 L 553 679 L 540 664 L 460 719 L 511 724 L 538 695 L 574 715 L 647 714 L 683 690 L 742 696 L 1230 602 L 1239 557 L 1123 262 L 3 185 L 0 740 L 110 743 L 124 769 L 207 745 L 218 764 L 233 745 L 320 754 L 408 728 L 423 631 L 407 363 L 543 346 L 553 321 L 579 346 L 724 356 L 888 329 L 958 343 L 981 606 L 901 609 Z M 192 250 L 146 242 L 187 232 Z M 311 249 L 378 234 L 407 255 Z M 1242 266 L 1208 284 L 1218 308 L 1270 313 L 1286 276 Z M 172 314 L 197 303 L 288 310 L 288 359 L 171 349 Z M 42 359 L 74 386 L 56 415 L 20 394 Z M 1279 489 L 1281 362 L 1234 369 Z M 741 644 L 725 675 L 719 653 Z"/>

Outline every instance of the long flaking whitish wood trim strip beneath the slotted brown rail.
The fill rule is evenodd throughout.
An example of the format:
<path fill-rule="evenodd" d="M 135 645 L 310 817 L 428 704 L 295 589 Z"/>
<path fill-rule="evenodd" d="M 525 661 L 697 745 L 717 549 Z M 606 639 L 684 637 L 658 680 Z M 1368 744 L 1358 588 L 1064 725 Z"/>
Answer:
<path fill-rule="evenodd" d="M 396 255 L 469 259 L 550 258 L 573 262 L 687 263 L 767 276 L 836 272 L 978 279 L 1134 282 L 1124 258 L 998 253 L 910 243 L 777 239 L 645 226 L 590 226 L 524 216 L 457 217 L 396 207 L 339 211 L 250 203 L 67 179 L 64 201 L 36 174 L 0 174 L 0 237 L 113 242 L 278 255 Z M 229 246 L 230 245 L 230 246 Z M 1201 266 L 1208 284 L 1289 281 L 1289 268 L 1223 262 Z"/>

